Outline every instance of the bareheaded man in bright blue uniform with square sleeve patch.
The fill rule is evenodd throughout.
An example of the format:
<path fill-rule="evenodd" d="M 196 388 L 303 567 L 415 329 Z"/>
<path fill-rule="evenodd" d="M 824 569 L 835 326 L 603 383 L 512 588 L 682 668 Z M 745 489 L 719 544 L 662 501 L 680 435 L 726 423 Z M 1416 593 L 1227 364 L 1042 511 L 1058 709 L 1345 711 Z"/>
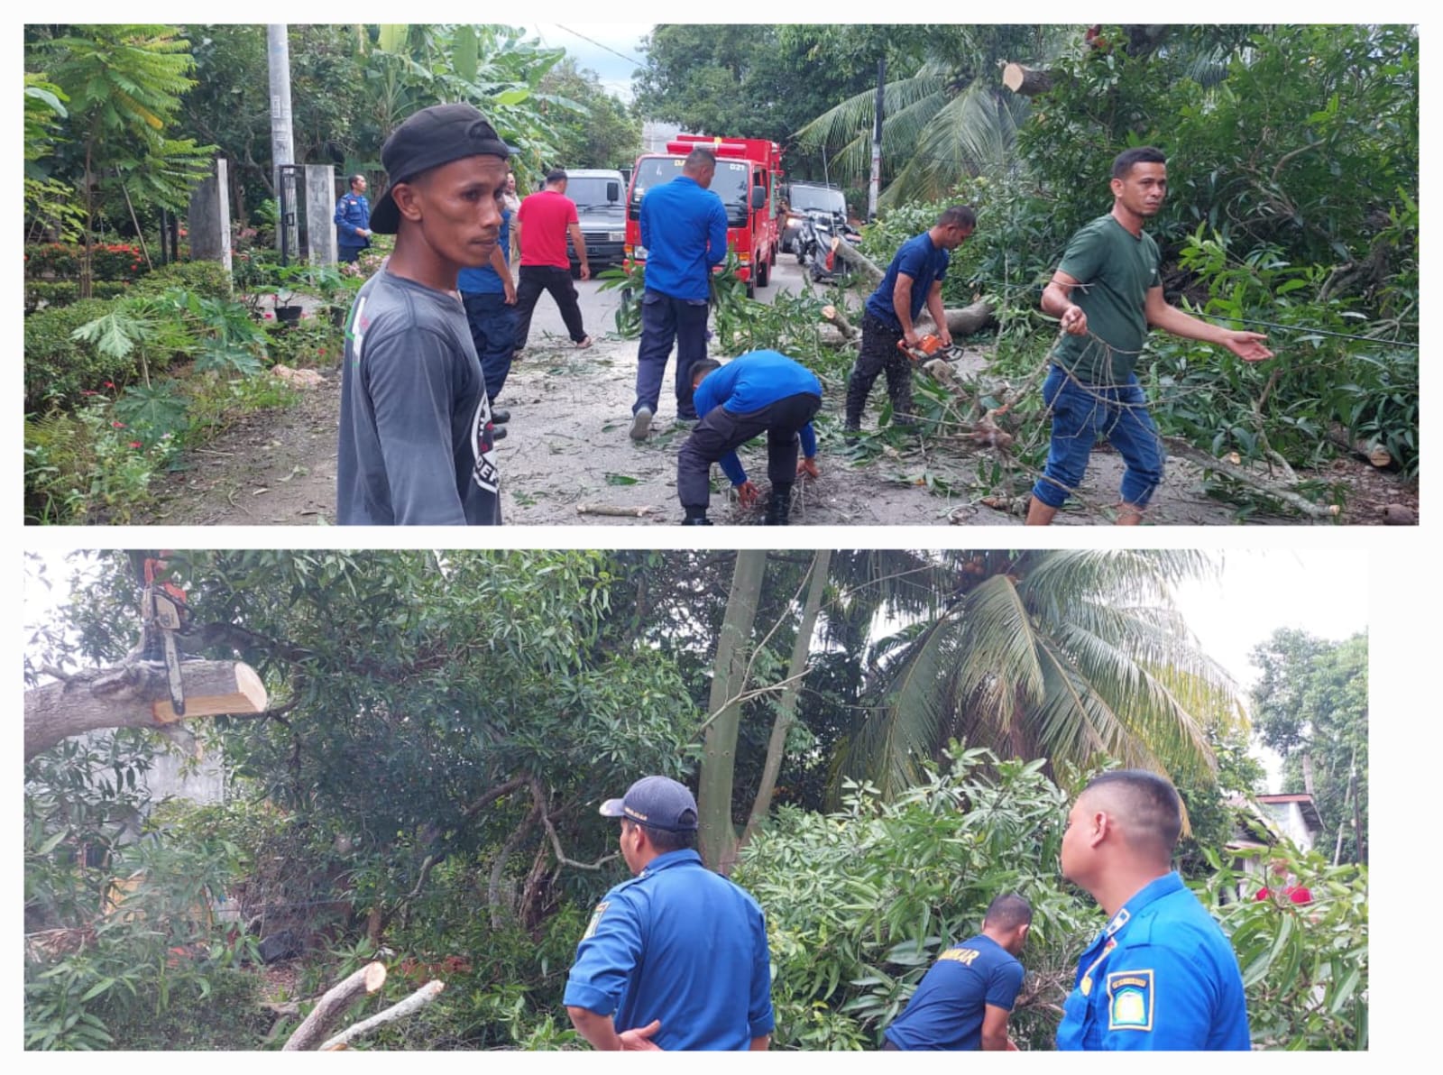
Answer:
<path fill-rule="evenodd" d="M 1062 876 L 1108 923 L 1078 964 L 1059 1049 L 1248 1049 L 1238 958 L 1172 866 L 1173 786 L 1150 772 L 1097 776 L 1062 835 Z"/>

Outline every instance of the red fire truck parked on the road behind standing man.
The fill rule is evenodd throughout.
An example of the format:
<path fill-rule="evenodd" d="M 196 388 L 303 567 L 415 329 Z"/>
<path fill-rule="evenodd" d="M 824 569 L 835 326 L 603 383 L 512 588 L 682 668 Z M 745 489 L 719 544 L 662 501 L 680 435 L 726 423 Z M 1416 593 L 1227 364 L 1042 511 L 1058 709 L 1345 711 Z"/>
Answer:
<path fill-rule="evenodd" d="M 641 199 L 654 186 L 681 175 L 681 166 L 697 146 L 717 154 L 711 190 L 726 206 L 727 248 L 736 254 L 737 277 L 746 281 L 749 297 L 766 287 L 776 264 L 775 192 L 782 180 L 782 147 L 765 139 L 713 139 L 681 134 L 667 143 L 665 153 L 642 153 L 632 169 L 626 192 L 626 258 L 645 261 L 641 245 Z"/>

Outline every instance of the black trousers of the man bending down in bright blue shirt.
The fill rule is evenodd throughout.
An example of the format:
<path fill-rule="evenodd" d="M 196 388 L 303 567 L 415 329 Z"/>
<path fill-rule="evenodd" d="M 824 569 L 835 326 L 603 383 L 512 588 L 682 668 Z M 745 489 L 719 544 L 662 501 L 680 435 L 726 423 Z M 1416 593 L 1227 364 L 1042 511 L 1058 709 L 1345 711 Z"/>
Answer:
<path fill-rule="evenodd" d="M 775 489 L 797 481 L 798 431 L 821 408 L 821 397 L 798 392 L 746 414 L 713 407 L 677 455 L 677 496 L 683 508 L 706 508 L 711 502 L 711 465 L 736 452 L 752 437 L 766 433 L 766 476 Z"/>

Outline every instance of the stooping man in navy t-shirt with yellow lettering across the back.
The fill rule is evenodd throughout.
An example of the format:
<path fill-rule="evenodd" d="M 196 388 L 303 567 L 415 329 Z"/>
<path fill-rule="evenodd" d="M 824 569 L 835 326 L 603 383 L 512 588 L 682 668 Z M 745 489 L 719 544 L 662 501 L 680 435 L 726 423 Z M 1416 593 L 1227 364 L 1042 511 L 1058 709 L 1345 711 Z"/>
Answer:
<path fill-rule="evenodd" d="M 1022 988 L 1017 957 L 1032 929 L 1032 906 L 1022 896 L 997 896 L 983 932 L 952 945 L 918 983 L 902 1014 L 886 1029 L 883 1049 L 1016 1049 L 1007 1019 Z"/>

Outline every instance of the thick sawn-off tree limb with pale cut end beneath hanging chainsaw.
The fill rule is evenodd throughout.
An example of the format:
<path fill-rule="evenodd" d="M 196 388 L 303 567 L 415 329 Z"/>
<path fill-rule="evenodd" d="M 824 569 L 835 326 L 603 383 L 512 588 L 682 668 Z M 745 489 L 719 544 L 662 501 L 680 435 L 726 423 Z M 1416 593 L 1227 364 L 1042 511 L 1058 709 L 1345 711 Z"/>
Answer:
<path fill-rule="evenodd" d="M 266 685 L 240 661 L 180 665 L 185 720 L 222 713 L 264 713 Z M 166 670 L 154 661 L 126 661 L 76 672 L 25 693 L 25 760 L 62 739 L 102 727 L 162 727 L 180 720 L 170 706 Z"/>

